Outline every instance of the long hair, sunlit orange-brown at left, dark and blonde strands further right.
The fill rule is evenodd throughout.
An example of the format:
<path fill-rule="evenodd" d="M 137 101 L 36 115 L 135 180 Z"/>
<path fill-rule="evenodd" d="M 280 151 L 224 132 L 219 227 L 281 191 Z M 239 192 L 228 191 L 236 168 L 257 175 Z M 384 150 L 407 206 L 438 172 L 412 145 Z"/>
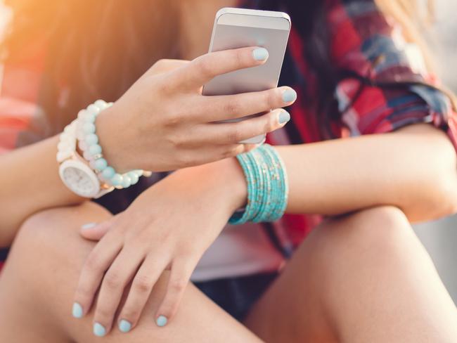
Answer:
<path fill-rule="evenodd" d="M 431 0 L 430 0 L 431 1 Z M 247 1 L 249 3 L 249 1 Z M 414 22 L 416 0 L 377 0 L 386 15 L 401 24 L 407 40 L 430 54 Z M 1 46 L 4 61 L 17 61 L 39 53 L 46 46 L 44 78 L 39 104 L 60 131 L 86 104 L 103 98 L 115 101 L 160 58 L 179 58 L 176 49 L 179 18 L 169 0 L 6 0 L 13 20 Z M 328 60 L 330 37 L 325 25 L 325 1 L 257 0 L 257 8 L 291 13 L 292 22 L 307 39 L 306 57 L 318 75 L 323 107 L 333 95 L 337 73 Z M 162 15 L 167 13 L 167 15 Z M 300 17 L 295 18 L 297 15 Z M 332 108 L 322 112 L 337 115 Z M 323 131 L 331 119 L 321 116 Z"/>

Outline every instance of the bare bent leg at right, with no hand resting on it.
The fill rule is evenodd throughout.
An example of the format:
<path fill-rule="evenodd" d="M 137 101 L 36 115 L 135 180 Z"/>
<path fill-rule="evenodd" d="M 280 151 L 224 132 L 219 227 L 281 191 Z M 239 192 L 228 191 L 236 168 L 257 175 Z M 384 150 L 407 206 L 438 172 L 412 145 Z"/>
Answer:
<path fill-rule="evenodd" d="M 317 228 L 246 321 L 266 342 L 457 342 L 457 310 L 404 214 Z"/>

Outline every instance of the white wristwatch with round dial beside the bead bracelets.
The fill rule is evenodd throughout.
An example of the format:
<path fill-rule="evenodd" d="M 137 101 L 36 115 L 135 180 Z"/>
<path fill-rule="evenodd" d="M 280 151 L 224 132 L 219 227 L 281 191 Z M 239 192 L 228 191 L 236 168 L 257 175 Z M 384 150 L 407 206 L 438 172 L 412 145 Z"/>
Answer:
<path fill-rule="evenodd" d="M 100 198 L 114 190 L 114 187 L 98 179 L 89 162 L 77 152 L 76 121 L 67 125 L 60 134 L 57 162 L 62 182 L 83 198 Z"/>

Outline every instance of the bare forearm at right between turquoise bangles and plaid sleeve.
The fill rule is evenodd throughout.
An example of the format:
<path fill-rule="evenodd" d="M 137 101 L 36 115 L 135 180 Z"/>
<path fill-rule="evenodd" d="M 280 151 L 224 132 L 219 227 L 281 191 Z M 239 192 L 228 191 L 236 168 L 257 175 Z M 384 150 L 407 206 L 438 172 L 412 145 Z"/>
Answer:
<path fill-rule="evenodd" d="M 277 150 L 290 184 L 288 213 L 337 215 L 393 205 L 411 221 L 425 221 L 456 209 L 456 153 L 430 125 Z"/>

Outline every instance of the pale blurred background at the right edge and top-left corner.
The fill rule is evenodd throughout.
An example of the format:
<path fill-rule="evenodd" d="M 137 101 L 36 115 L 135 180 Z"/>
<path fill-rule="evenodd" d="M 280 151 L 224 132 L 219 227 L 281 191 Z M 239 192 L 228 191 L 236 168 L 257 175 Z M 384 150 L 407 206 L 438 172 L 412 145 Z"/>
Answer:
<path fill-rule="evenodd" d="M 425 30 L 443 83 L 457 93 L 457 21 L 456 0 L 436 0 L 435 22 Z M 10 17 L 0 0 L 0 33 Z M 1 34 L 0 34 L 1 36 Z M 457 304 L 457 216 L 414 226 L 420 240 L 432 256 L 454 303 Z"/>

